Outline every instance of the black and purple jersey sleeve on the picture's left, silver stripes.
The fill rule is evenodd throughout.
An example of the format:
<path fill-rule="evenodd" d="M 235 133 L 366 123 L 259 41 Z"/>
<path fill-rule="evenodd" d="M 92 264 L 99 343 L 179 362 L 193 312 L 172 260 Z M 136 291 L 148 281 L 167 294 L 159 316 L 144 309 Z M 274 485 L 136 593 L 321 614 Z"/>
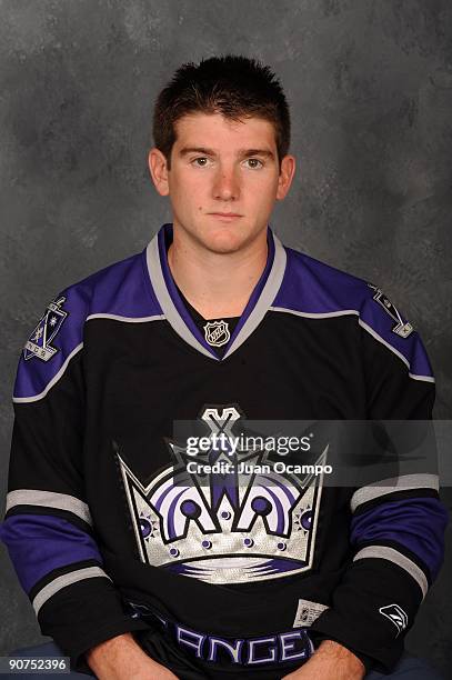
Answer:
<path fill-rule="evenodd" d="M 49 304 L 24 346 L 0 528 L 41 632 L 78 670 L 89 670 L 91 647 L 148 627 L 123 611 L 84 494 L 83 320 L 83 300 L 70 290 Z"/>

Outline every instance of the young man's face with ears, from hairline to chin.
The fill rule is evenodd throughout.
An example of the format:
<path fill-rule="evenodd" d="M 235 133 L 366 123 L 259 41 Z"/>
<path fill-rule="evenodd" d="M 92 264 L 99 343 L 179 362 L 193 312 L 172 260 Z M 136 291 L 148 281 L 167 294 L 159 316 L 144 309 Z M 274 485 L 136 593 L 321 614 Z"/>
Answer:
<path fill-rule="evenodd" d="M 169 196 L 174 238 L 211 252 L 235 252 L 265 239 L 274 202 L 285 197 L 294 159 L 281 171 L 273 126 L 259 118 L 229 121 L 193 113 L 175 123 L 171 170 L 158 149 L 149 156 L 157 190 Z"/>

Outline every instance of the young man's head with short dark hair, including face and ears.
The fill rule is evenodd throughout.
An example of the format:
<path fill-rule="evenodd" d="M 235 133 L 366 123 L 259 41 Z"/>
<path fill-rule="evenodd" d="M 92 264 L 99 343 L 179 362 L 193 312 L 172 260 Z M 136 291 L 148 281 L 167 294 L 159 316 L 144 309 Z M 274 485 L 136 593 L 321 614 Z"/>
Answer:
<path fill-rule="evenodd" d="M 149 166 L 169 196 L 174 241 L 217 253 L 264 243 L 294 159 L 284 94 L 268 67 L 244 57 L 182 66 L 159 94 Z"/>

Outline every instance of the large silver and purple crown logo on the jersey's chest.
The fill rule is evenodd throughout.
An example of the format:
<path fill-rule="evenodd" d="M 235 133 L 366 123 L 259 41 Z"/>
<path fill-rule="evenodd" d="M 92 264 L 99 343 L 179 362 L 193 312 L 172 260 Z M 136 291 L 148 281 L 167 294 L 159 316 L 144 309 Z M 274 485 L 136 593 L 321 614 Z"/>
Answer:
<path fill-rule="evenodd" d="M 232 437 L 240 418 L 235 407 L 205 408 L 201 421 L 213 440 L 220 433 Z M 187 447 L 169 447 L 174 464 L 147 486 L 117 452 L 143 562 L 215 583 L 311 568 L 322 476 L 277 472 L 268 451 L 237 448 L 231 454 L 228 444 L 195 457 L 212 469 L 218 463 L 220 472 L 189 472 L 194 459 Z M 324 464 L 327 449 L 315 464 Z M 221 463 L 231 460 L 233 471 L 222 472 Z M 245 471 L 239 473 L 237 463 L 247 463 Z"/>

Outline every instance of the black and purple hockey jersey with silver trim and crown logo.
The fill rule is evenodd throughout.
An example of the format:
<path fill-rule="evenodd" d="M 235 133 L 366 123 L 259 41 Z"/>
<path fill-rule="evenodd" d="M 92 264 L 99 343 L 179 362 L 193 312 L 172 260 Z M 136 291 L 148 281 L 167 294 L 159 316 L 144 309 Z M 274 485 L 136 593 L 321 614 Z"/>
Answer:
<path fill-rule="evenodd" d="M 442 562 L 434 470 L 329 484 L 209 441 L 247 422 L 430 419 L 419 334 L 378 287 L 270 229 L 240 319 L 202 327 L 171 239 L 164 224 L 63 290 L 20 358 L 1 539 L 42 633 L 88 670 L 88 649 L 132 631 L 183 680 L 274 680 L 325 638 L 391 668 Z M 208 439 L 197 457 L 184 422 Z"/>

